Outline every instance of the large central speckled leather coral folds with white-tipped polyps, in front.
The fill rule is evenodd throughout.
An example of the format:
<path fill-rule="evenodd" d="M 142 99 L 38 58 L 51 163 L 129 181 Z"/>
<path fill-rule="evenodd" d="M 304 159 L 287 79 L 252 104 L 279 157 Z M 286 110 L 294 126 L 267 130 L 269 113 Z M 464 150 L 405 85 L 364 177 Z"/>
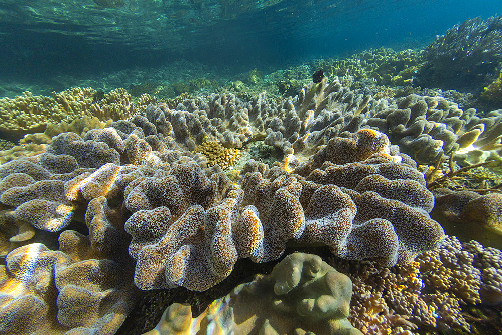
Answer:
<path fill-rule="evenodd" d="M 385 135 L 367 129 L 331 139 L 292 173 L 259 172 L 251 161 L 240 188 L 195 163 L 132 182 L 124 198 L 137 286 L 203 291 L 237 259 L 278 259 L 290 240 L 321 242 L 348 259 L 410 262 L 444 235 L 428 215 L 434 197 L 423 175 L 389 150 Z"/>

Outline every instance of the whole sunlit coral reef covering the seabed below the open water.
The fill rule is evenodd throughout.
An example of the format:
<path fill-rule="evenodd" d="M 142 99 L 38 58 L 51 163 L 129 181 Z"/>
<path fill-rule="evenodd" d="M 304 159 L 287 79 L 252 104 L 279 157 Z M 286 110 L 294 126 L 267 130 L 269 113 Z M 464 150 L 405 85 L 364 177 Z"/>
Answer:
<path fill-rule="evenodd" d="M 0 332 L 500 331 L 502 109 L 394 94 L 452 34 L 207 95 L 1 99 Z"/>

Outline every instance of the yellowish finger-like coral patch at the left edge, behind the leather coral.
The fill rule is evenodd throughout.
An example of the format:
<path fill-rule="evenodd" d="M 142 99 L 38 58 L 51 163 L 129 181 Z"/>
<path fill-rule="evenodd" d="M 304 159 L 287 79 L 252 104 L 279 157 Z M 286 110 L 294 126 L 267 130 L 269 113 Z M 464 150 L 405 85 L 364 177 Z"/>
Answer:
<path fill-rule="evenodd" d="M 34 96 L 26 91 L 14 99 L 0 99 L 0 133 L 20 139 L 28 133 L 43 132 L 46 124 L 72 121 L 78 117 L 119 120 L 134 114 L 131 96 L 119 88 L 100 94 L 92 88 L 71 88 L 52 97 Z"/>

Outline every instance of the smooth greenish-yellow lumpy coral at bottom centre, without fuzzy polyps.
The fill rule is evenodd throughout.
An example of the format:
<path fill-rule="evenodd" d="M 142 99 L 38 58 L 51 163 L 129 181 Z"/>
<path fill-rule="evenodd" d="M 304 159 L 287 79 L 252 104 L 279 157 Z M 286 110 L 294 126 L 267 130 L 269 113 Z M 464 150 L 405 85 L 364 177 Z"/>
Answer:
<path fill-rule="evenodd" d="M 361 334 L 347 321 L 352 287 L 319 256 L 294 253 L 272 273 L 235 287 L 192 318 L 190 305 L 173 304 L 148 335 L 235 333 Z"/>

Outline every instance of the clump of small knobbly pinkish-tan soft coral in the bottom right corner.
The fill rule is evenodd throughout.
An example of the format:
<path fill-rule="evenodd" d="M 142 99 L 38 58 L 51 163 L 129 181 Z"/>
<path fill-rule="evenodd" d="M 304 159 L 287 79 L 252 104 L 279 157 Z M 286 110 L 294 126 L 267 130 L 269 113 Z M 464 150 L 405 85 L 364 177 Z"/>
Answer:
<path fill-rule="evenodd" d="M 440 248 L 407 265 L 389 269 L 340 259 L 329 264 L 352 279 L 349 320 L 357 329 L 367 334 L 411 334 L 419 327 L 472 332 L 464 306 L 500 302 L 501 259 L 497 249 L 447 236 Z"/>

